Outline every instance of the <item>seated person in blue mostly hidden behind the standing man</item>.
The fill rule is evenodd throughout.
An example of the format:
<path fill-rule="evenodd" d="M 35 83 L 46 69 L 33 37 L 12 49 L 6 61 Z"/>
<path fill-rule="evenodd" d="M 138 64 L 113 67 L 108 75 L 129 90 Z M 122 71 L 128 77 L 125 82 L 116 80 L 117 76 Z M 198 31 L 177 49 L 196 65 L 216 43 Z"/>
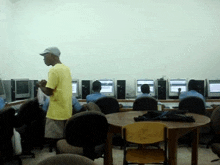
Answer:
<path fill-rule="evenodd" d="M 50 102 L 49 99 L 50 98 L 46 98 L 46 100 L 44 101 L 44 104 L 42 106 L 42 109 L 44 110 L 44 112 L 47 112 L 47 110 L 48 110 L 49 102 Z M 83 108 L 83 106 L 80 105 L 80 103 L 78 102 L 78 100 L 74 96 L 72 96 L 72 106 L 73 106 L 74 113 L 81 111 Z"/>

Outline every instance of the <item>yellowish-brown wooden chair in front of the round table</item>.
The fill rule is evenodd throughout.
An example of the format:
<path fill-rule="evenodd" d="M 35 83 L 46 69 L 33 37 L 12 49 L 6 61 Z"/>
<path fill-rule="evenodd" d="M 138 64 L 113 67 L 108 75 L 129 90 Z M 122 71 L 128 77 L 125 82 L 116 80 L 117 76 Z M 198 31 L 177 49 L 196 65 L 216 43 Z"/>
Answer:
<path fill-rule="evenodd" d="M 167 128 L 159 122 L 136 122 L 124 126 L 124 165 L 127 164 L 167 164 Z M 163 149 L 129 148 L 127 143 L 139 145 L 164 141 Z"/>

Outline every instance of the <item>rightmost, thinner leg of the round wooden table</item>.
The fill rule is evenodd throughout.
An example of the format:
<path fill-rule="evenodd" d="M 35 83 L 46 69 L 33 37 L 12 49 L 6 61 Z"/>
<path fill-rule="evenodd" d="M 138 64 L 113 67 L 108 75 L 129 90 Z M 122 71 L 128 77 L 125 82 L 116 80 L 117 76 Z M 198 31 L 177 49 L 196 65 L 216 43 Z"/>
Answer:
<path fill-rule="evenodd" d="M 198 145 L 199 145 L 199 131 L 200 128 L 196 128 L 192 131 L 192 165 L 198 165 Z"/>

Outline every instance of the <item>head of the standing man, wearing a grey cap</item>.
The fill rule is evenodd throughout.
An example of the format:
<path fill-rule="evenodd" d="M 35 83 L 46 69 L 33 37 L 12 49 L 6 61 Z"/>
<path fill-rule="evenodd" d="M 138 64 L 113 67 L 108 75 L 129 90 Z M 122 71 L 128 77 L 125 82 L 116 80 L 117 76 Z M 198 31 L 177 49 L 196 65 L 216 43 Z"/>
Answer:
<path fill-rule="evenodd" d="M 49 47 L 44 50 L 44 52 L 40 53 L 40 55 L 44 56 L 44 62 L 47 66 L 54 66 L 57 63 L 60 63 L 60 50 L 57 47 Z"/>

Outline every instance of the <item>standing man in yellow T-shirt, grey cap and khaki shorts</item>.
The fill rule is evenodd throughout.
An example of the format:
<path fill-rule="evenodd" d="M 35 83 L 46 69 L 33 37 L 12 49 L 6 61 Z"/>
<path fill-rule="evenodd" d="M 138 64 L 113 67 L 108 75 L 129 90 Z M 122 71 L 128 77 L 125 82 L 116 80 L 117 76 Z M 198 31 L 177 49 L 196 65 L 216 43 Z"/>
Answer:
<path fill-rule="evenodd" d="M 50 139 L 50 151 L 56 142 L 64 138 L 64 127 L 67 119 L 72 116 L 72 78 L 69 67 L 60 61 L 60 50 L 49 47 L 40 53 L 47 66 L 52 65 L 48 73 L 48 81 L 41 80 L 39 87 L 50 96 L 46 115 L 45 138 Z"/>

